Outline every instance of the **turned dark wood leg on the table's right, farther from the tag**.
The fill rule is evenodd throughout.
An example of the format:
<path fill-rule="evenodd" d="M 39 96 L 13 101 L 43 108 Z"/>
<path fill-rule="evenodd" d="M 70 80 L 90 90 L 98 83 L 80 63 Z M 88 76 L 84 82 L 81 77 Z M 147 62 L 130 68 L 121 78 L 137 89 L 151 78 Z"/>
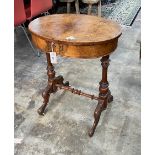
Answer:
<path fill-rule="evenodd" d="M 109 83 L 107 81 L 107 71 L 109 66 L 109 56 L 102 57 L 101 59 L 102 65 L 102 80 L 100 81 L 99 86 L 99 98 L 98 105 L 94 112 L 94 124 L 93 127 L 89 131 L 89 136 L 93 136 L 96 126 L 99 122 L 101 112 L 106 109 L 107 103 L 113 100 L 113 96 L 109 91 Z"/>

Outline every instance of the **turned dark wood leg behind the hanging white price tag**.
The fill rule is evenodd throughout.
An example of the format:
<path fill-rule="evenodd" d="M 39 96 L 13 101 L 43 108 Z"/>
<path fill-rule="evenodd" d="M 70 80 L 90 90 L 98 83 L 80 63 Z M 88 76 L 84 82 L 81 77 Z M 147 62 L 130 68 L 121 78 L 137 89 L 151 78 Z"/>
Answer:
<path fill-rule="evenodd" d="M 48 85 L 42 93 L 42 97 L 44 100 L 43 100 L 43 105 L 38 109 L 39 115 L 44 115 L 44 111 L 49 101 L 50 94 L 54 92 L 53 85 L 52 85 L 53 79 L 55 78 L 54 66 L 51 63 L 49 53 L 46 53 L 46 58 L 47 58 Z"/>

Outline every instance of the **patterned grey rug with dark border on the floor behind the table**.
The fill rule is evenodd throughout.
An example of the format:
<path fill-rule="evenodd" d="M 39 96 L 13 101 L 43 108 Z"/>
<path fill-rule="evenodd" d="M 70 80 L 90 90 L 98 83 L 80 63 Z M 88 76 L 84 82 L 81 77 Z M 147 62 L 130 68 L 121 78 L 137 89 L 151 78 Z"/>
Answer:
<path fill-rule="evenodd" d="M 141 0 L 116 0 L 107 4 L 102 1 L 102 17 L 131 26 L 140 8 Z M 87 10 L 88 6 L 80 3 L 80 13 L 87 14 Z M 66 13 L 66 5 L 59 6 L 56 13 Z M 71 13 L 75 13 L 74 4 L 71 6 Z M 92 15 L 97 15 L 97 5 L 93 5 Z"/>

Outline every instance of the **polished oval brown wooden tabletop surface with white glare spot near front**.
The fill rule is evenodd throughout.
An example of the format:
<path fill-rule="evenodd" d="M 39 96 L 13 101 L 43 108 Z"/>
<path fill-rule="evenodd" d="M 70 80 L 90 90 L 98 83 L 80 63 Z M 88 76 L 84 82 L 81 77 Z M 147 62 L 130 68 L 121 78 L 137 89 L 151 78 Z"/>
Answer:
<path fill-rule="evenodd" d="M 87 47 L 90 45 L 100 46 L 117 40 L 121 35 L 121 27 L 116 22 L 81 14 L 54 14 L 40 17 L 29 24 L 29 31 L 35 36 L 35 38 L 32 38 L 33 41 L 35 40 L 34 42 L 37 42 L 36 37 L 38 37 L 48 42 L 76 46 L 76 48 L 78 45 Z M 39 43 L 37 46 L 40 46 Z M 48 51 L 47 48 L 45 51 Z M 74 55 L 76 54 L 77 56 L 75 57 L 80 57 L 77 52 L 74 53 Z M 64 53 L 60 55 L 64 55 Z"/>

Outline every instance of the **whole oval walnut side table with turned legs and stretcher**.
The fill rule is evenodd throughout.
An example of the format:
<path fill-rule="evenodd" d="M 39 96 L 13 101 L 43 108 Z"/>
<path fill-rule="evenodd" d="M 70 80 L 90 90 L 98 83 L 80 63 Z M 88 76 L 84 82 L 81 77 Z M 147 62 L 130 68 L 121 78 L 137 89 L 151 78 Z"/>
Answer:
<path fill-rule="evenodd" d="M 44 101 L 38 109 L 38 113 L 44 115 L 50 94 L 59 89 L 98 100 L 94 112 L 94 124 L 89 131 L 89 136 L 93 136 L 101 112 L 106 109 L 108 102 L 113 101 L 113 96 L 108 88 L 107 69 L 109 55 L 116 49 L 118 38 L 121 35 L 120 26 L 113 21 L 90 15 L 55 14 L 33 20 L 29 24 L 29 31 L 35 46 L 41 49 L 47 57 L 48 84 L 42 93 Z M 55 76 L 49 53 L 52 49 L 62 57 L 83 59 L 102 57 L 102 80 L 99 83 L 99 95 L 90 95 L 74 89 L 68 81 L 64 82 L 62 76 Z"/>

